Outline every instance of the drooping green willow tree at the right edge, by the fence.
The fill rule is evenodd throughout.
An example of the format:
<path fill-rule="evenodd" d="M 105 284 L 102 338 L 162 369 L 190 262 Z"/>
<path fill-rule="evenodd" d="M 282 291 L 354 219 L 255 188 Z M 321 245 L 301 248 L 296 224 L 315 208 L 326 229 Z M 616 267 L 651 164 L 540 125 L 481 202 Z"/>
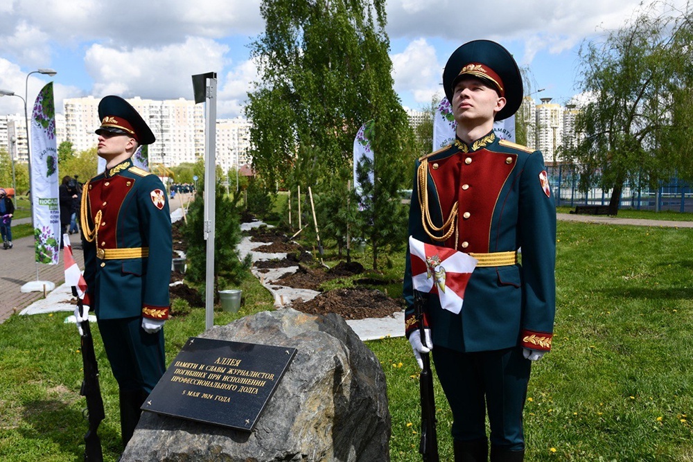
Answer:
<path fill-rule="evenodd" d="M 691 19 L 690 11 L 651 3 L 601 44 L 581 47 L 581 90 L 590 98 L 568 157 L 579 166 L 583 190 L 611 190 L 614 215 L 626 182 L 656 186 L 690 170 L 681 154 L 693 130 Z"/>

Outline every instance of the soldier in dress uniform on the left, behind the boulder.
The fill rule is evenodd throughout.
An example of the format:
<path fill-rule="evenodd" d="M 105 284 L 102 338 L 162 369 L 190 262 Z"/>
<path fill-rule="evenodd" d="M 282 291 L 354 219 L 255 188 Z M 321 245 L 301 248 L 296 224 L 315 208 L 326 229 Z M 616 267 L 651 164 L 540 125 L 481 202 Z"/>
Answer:
<path fill-rule="evenodd" d="M 142 403 L 166 371 L 162 328 L 170 308 L 173 240 L 164 184 L 130 159 L 139 145 L 154 143 L 154 134 L 119 96 L 103 98 L 98 116 L 97 153 L 106 170 L 82 189 L 85 305 L 96 314 L 118 382 L 127 445 Z M 80 317 L 76 310 L 78 321 L 86 311 Z"/>

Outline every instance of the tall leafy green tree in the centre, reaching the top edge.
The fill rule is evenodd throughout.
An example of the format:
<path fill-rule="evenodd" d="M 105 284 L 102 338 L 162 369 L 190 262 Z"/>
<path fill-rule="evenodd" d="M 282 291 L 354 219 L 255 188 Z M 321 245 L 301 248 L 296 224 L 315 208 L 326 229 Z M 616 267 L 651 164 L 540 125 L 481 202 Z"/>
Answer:
<path fill-rule="evenodd" d="M 411 181 L 413 136 L 393 89 L 385 0 L 264 0 L 261 15 L 265 33 L 252 44 L 259 80 L 246 107 L 256 172 L 270 184 L 314 185 L 314 194 L 335 190 L 335 178 L 346 186 L 356 133 L 373 119 L 377 203 L 396 197 Z M 369 239 L 387 245 L 377 233 Z"/>

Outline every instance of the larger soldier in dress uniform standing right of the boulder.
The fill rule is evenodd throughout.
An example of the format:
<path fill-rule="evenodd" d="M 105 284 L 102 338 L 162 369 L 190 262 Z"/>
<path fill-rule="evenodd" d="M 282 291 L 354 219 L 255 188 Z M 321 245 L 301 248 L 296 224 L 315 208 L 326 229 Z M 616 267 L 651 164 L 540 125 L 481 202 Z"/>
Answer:
<path fill-rule="evenodd" d="M 414 355 L 432 352 L 453 411 L 455 461 L 489 459 L 486 412 L 491 461 L 522 461 L 530 366 L 551 348 L 556 209 L 541 152 L 493 132 L 493 121 L 512 116 L 523 100 L 510 53 L 488 40 L 468 42 L 448 59 L 443 85 L 456 139 L 416 162 L 409 230 L 478 263 L 459 314 L 424 294 L 422 322 L 432 340 L 424 345 L 407 249 L 405 329 Z"/>

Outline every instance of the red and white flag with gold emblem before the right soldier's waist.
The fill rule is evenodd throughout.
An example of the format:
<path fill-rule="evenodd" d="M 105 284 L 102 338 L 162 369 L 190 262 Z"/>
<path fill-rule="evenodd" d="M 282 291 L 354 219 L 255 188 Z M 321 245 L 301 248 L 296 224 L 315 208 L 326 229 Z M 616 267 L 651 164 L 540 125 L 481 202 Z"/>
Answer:
<path fill-rule="evenodd" d="M 414 290 L 438 294 L 441 308 L 455 314 L 462 310 L 464 289 L 477 259 L 464 252 L 426 244 L 409 236 Z"/>

